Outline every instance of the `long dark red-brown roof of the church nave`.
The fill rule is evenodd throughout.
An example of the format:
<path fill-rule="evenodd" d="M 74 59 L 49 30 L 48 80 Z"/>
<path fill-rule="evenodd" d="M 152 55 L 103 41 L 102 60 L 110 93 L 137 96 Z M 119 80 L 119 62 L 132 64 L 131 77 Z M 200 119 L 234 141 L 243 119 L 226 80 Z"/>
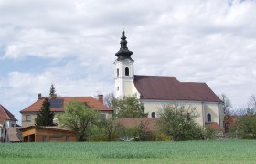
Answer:
<path fill-rule="evenodd" d="M 221 102 L 206 83 L 179 82 L 176 77 L 134 76 L 141 99 Z"/>

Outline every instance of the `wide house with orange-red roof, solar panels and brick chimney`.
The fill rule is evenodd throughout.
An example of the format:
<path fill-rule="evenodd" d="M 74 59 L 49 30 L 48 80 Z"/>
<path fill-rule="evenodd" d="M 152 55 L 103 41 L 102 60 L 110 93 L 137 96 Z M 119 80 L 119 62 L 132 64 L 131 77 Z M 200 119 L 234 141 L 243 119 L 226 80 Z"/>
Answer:
<path fill-rule="evenodd" d="M 89 108 L 97 110 L 103 118 L 112 117 L 113 110 L 112 108 L 108 108 L 103 105 L 102 95 L 99 95 L 99 99 L 95 99 L 93 97 L 57 97 L 56 95 L 42 97 L 41 94 L 38 94 L 38 99 L 35 103 L 20 111 L 22 115 L 22 127 L 35 125 L 35 118 L 37 118 L 37 112 L 42 107 L 45 98 L 48 98 L 48 101 L 50 102 L 50 110 L 55 114 L 64 112 L 65 104 L 68 104 L 71 101 L 79 101 L 86 104 Z"/>

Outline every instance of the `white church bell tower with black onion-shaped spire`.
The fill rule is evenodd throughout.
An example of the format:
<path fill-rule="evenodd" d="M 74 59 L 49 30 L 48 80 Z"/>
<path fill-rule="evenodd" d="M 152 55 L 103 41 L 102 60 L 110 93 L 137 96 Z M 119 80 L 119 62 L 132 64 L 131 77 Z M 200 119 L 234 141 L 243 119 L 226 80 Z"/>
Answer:
<path fill-rule="evenodd" d="M 131 58 L 133 52 L 127 47 L 125 32 L 123 30 L 120 50 L 115 54 L 117 59 L 114 61 L 115 66 L 115 97 L 132 96 L 133 95 L 133 62 Z"/>

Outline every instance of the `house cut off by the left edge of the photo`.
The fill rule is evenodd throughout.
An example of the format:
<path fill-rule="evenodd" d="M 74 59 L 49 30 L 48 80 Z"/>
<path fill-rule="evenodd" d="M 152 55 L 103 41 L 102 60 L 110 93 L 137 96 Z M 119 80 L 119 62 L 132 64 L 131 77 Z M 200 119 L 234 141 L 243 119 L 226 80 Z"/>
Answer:
<path fill-rule="evenodd" d="M 16 121 L 15 116 L 0 104 L 0 142 L 4 141 L 6 128 L 16 127 Z"/>

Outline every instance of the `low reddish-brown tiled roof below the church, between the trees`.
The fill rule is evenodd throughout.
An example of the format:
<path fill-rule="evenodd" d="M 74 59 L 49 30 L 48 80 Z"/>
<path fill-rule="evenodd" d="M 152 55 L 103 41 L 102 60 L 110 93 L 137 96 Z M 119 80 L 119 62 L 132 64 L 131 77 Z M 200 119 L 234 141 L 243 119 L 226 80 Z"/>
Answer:
<path fill-rule="evenodd" d="M 135 128 L 144 125 L 145 131 L 155 131 L 158 118 L 118 118 L 117 122 L 125 128 Z"/>

